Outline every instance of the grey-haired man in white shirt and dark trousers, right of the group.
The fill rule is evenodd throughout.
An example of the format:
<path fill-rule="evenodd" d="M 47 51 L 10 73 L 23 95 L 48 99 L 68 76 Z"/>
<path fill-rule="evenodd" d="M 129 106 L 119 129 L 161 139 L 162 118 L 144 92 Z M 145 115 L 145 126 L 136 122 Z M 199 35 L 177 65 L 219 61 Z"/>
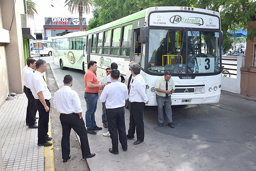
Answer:
<path fill-rule="evenodd" d="M 148 104 L 148 97 L 146 95 L 146 84 L 140 73 L 140 65 L 133 63 L 130 65 L 131 74 L 134 79 L 131 82 L 131 86 L 128 90 L 129 101 L 131 102 L 130 109 L 130 126 L 127 134 L 128 139 L 133 139 L 136 129 L 137 140 L 134 145 L 140 144 L 144 141 L 144 122 L 143 122 L 143 110 L 145 104 Z"/>

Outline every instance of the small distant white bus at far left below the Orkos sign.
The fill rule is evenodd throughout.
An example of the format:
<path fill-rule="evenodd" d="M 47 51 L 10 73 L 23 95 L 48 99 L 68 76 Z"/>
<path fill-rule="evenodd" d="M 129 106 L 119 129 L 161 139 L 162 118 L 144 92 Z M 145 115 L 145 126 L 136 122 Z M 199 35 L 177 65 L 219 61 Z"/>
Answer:
<path fill-rule="evenodd" d="M 34 40 L 33 54 L 52 56 L 52 40 Z"/>

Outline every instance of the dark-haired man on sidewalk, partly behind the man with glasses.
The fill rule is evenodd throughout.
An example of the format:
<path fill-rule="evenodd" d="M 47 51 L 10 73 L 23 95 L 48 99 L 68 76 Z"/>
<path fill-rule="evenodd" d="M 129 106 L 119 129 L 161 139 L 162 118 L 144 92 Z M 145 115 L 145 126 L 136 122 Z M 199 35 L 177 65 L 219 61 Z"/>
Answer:
<path fill-rule="evenodd" d="M 27 115 L 26 115 L 26 125 L 29 128 L 38 128 L 36 125 L 36 105 L 35 105 L 35 98 L 32 95 L 30 90 L 31 87 L 31 78 L 34 74 L 36 60 L 34 58 L 27 58 L 27 66 L 24 67 L 25 69 L 22 71 L 22 78 L 23 78 L 23 85 L 24 85 L 24 92 L 27 96 Z"/>

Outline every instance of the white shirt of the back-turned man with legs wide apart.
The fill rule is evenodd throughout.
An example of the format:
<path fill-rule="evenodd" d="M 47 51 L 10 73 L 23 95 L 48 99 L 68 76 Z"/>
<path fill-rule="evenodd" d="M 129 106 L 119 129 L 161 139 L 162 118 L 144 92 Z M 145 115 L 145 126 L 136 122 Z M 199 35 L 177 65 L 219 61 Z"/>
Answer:
<path fill-rule="evenodd" d="M 59 113 L 70 114 L 83 111 L 77 92 L 69 86 L 63 86 L 54 93 L 53 104 Z"/>

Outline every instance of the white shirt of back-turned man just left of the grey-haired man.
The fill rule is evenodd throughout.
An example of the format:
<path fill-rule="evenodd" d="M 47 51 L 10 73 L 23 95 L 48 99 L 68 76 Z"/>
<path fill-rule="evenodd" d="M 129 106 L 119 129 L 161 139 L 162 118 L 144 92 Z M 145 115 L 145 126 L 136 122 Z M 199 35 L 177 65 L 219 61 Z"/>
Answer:
<path fill-rule="evenodd" d="M 123 107 L 127 99 L 127 87 L 118 80 L 113 80 L 111 84 L 105 86 L 100 96 L 100 102 L 105 102 L 107 109 Z"/>

